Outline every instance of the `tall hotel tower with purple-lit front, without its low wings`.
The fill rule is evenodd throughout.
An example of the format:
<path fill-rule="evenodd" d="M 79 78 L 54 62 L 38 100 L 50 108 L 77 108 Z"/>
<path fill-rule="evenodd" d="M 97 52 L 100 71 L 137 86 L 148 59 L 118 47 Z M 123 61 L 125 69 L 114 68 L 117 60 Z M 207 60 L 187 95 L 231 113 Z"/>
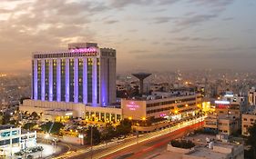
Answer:
<path fill-rule="evenodd" d="M 92 106 L 116 102 L 116 50 L 70 44 L 66 51 L 36 52 L 32 60 L 32 99 Z"/>

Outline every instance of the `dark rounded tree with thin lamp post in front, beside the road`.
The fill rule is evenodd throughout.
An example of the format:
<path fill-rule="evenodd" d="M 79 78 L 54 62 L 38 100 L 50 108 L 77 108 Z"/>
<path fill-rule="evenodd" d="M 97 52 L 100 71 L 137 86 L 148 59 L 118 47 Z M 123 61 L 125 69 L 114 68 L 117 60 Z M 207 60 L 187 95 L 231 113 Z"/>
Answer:
<path fill-rule="evenodd" d="M 91 132 L 92 130 L 92 132 Z M 86 131 L 86 142 L 87 144 L 91 144 L 91 133 L 92 133 L 92 144 L 99 144 L 100 143 L 100 136 L 101 134 L 97 130 L 97 127 L 95 126 L 89 126 Z"/>

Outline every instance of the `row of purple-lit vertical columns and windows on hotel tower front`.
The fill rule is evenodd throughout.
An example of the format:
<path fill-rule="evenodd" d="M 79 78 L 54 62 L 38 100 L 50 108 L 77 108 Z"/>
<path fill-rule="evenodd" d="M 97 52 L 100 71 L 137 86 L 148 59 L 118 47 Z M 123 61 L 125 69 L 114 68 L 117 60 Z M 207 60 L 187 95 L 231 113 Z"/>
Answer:
<path fill-rule="evenodd" d="M 53 94 L 53 61 L 56 60 L 56 94 Z M 61 59 L 48 59 L 49 62 L 49 69 L 48 69 L 48 88 L 46 88 L 46 67 L 45 67 L 45 59 L 40 59 L 41 65 L 41 79 L 40 79 L 40 94 L 41 99 L 38 99 L 38 78 L 37 78 L 37 59 L 34 60 L 34 79 L 33 79 L 33 86 L 34 86 L 34 99 L 35 100 L 42 100 L 45 101 L 46 99 L 46 89 L 48 89 L 48 100 L 53 101 L 53 96 L 56 95 L 56 101 L 61 101 Z M 65 101 L 66 102 L 73 102 L 69 99 L 69 72 L 70 72 L 70 59 L 66 60 L 66 67 L 65 67 L 65 75 L 66 75 L 66 87 L 65 87 Z M 78 103 L 78 58 L 74 58 L 74 103 Z M 92 65 L 92 104 L 97 105 L 97 58 L 92 58 L 90 61 L 90 65 Z M 83 103 L 87 104 L 87 58 L 83 58 Z"/>

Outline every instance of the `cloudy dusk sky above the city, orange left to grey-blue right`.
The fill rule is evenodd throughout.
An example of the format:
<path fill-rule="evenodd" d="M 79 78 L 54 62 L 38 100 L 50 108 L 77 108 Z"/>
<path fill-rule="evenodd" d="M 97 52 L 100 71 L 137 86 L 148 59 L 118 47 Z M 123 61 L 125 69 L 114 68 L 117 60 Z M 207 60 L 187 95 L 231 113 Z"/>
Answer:
<path fill-rule="evenodd" d="M 1 0 L 0 71 L 35 51 L 96 42 L 118 72 L 256 68 L 255 0 Z"/>

